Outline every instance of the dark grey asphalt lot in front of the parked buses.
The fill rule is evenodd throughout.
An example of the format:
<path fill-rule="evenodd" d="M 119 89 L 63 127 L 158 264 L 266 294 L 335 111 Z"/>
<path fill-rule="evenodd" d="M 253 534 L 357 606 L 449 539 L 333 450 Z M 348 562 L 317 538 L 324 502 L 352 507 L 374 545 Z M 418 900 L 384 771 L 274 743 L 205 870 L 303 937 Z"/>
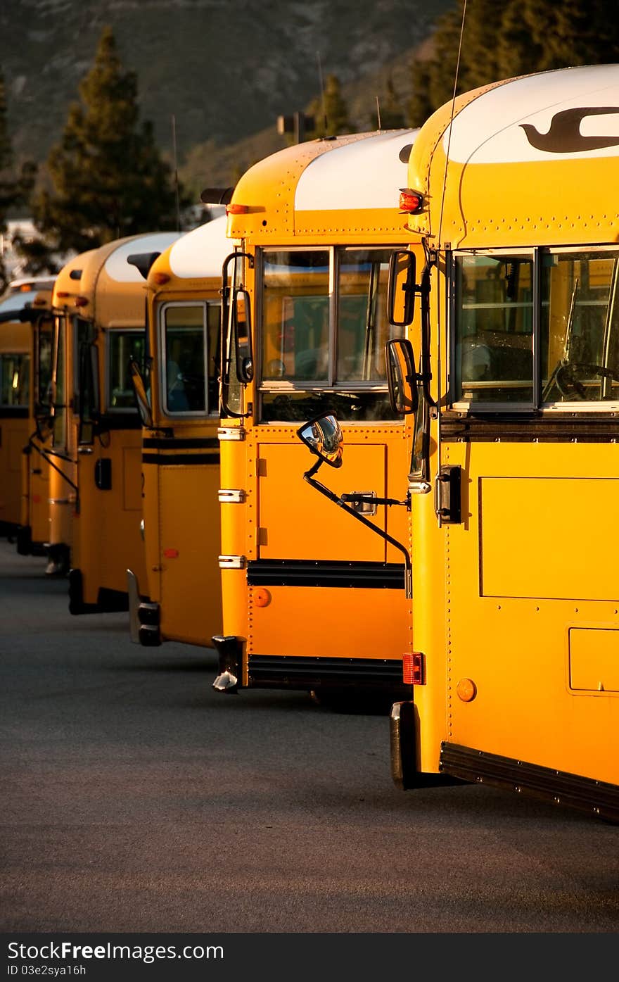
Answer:
<path fill-rule="evenodd" d="M 619 828 L 398 791 L 385 714 L 212 688 L 0 540 L 2 930 L 614 933 Z"/>

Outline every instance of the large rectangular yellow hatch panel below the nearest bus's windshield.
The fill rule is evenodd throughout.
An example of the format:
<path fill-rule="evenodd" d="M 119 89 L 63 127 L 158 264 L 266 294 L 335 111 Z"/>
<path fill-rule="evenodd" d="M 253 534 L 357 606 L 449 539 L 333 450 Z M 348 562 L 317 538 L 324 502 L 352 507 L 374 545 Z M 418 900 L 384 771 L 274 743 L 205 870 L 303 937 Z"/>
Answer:
<path fill-rule="evenodd" d="M 617 501 L 616 478 L 481 478 L 482 595 L 619 597 L 619 525 L 604 522 L 600 531 L 600 516 L 614 515 Z"/>

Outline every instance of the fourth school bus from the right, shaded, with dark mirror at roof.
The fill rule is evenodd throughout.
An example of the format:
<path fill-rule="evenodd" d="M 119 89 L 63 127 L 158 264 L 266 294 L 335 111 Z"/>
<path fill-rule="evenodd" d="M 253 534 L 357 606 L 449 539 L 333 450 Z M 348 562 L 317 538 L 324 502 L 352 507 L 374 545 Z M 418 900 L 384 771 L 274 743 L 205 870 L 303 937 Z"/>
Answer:
<path fill-rule="evenodd" d="M 50 514 L 60 515 L 69 546 L 72 614 L 128 610 L 127 567 L 143 570 L 141 423 L 129 358 L 145 351 L 140 269 L 178 237 L 116 240 L 77 256 L 56 280 L 50 489 L 59 493 L 51 490 Z"/>

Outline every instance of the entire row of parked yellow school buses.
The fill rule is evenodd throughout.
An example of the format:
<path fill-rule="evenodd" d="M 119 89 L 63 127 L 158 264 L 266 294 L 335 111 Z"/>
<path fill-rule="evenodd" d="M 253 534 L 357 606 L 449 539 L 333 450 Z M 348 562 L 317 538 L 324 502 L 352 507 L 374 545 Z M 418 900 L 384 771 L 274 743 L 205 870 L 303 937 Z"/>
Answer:
<path fill-rule="evenodd" d="M 618 66 L 496 82 L 0 307 L 18 551 L 224 695 L 389 699 L 402 788 L 617 820 L 618 148 Z"/>

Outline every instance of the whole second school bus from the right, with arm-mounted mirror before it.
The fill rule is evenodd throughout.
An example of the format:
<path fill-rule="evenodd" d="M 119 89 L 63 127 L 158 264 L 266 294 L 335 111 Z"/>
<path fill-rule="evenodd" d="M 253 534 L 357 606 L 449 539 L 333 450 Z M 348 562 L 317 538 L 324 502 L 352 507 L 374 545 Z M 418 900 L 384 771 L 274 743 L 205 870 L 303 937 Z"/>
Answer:
<path fill-rule="evenodd" d="M 411 434 L 389 406 L 384 349 L 389 257 L 409 241 L 391 189 L 415 133 L 291 146 L 229 200 L 241 246 L 223 277 L 220 691 L 410 693 Z M 326 410 L 347 453 L 323 485 L 300 478 L 296 431 Z"/>

